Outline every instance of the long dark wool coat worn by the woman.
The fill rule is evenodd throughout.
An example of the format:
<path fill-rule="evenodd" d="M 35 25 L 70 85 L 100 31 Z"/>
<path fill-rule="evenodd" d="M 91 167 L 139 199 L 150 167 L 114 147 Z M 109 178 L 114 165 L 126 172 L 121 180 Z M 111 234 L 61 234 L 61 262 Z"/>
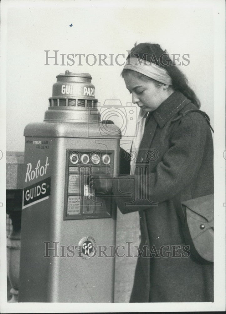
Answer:
<path fill-rule="evenodd" d="M 175 210 L 180 192 L 182 200 L 213 194 L 213 140 L 205 118 L 191 112 L 172 122 L 189 109 L 197 107 L 183 94 L 170 95 L 147 118 L 136 176 L 113 180 L 120 211 L 139 211 L 140 251 L 146 246 L 151 255 L 138 257 L 130 302 L 213 302 L 213 264 L 199 263 L 182 249 L 186 242 Z M 120 174 L 129 173 L 128 163 Z"/>

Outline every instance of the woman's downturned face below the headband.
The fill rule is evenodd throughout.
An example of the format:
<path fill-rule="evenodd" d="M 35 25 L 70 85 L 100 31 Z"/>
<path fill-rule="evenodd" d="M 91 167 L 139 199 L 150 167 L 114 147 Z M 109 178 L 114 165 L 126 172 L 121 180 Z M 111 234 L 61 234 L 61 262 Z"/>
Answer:
<path fill-rule="evenodd" d="M 153 81 L 142 80 L 136 74 L 125 74 L 124 81 L 132 94 L 132 102 L 146 112 L 156 110 L 169 96 L 166 85 L 157 87 Z"/>

